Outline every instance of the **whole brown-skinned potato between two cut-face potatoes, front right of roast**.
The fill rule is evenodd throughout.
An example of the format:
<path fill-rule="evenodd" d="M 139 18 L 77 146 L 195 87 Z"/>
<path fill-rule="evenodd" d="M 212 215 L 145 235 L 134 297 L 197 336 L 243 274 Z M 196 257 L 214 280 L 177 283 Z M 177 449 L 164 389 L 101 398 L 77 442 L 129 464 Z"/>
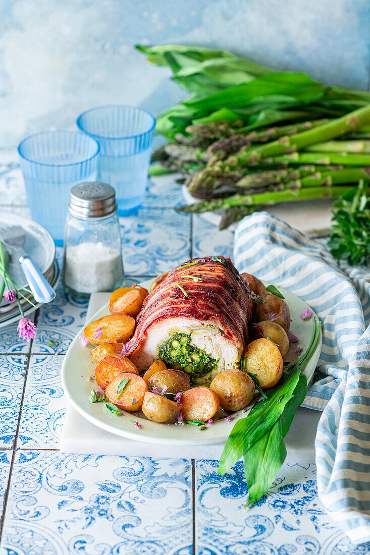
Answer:
<path fill-rule="evenodd" d="M 252 401 L 256 388 L 251 376 L 242 370 L 231 368 L 215 376 L 209 389 L 216 393 L 224 410 L 239 411 Z"/>

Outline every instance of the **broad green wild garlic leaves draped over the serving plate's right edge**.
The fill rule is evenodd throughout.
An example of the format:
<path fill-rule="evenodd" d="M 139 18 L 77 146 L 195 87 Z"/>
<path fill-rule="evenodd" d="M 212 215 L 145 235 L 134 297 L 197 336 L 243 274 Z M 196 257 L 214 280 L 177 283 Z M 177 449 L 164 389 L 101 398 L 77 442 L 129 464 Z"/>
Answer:
<path fill-rule="evenodd" d="M 287 435 L 294 414 L 306 397 L 307 380 L 301 372 L 317 345 L 320 329 L 321 324 L 317 325 L 314 319 L 307 352 L 283 372 L 276 386 L 266 392 L 266 401 L 256 403 L 246 418 L 234 424 L 228 437 L 218 473 L 223 476 L 243 457 L 248 485 L 247 506 L 266 493 L 284 462 L 287 451 L 283 437 Z"/>

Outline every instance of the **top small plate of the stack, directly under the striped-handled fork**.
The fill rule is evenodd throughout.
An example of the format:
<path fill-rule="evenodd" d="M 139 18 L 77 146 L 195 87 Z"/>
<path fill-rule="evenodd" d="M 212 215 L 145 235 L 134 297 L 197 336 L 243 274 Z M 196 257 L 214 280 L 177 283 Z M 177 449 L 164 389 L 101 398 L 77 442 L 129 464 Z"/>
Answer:
<path fill-rule="evenodd" d="M 23 228 L 26 240 L 23 249 L 31 256 L 37 268 L 43 273 L 51 273 L 51 269 L 55 260 L 55 244 L 49 232 L 38 224 L 37 221 L 27 218 L 22 214 L 15 214 L 0 210 L 0 228 L 10 225 L 20 225 Z M 14 281 L 23 287 L 27 286 L 27 280 L 24 277 L 21 265 L 13 256 L 13 251 L 9 249 L 11 261 L 9 263 L 9 274 Z M 5 299 L 0 302 L 2 311 L 12 310 L 13 307 L 8 305 Z"/>

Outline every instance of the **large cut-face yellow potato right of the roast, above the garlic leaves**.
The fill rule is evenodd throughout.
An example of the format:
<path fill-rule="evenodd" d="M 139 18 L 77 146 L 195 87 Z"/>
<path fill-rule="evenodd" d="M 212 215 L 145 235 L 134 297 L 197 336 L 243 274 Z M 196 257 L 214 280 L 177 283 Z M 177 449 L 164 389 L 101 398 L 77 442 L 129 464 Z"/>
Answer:
<path fill-rule="evenodd" d="M 269 339 L 256 339 L 249 343 L 245 354 L 244 370 L 256 374 L 259 386 L 273 387 L 283 371 L 283 359 L 278 347 Z"/>

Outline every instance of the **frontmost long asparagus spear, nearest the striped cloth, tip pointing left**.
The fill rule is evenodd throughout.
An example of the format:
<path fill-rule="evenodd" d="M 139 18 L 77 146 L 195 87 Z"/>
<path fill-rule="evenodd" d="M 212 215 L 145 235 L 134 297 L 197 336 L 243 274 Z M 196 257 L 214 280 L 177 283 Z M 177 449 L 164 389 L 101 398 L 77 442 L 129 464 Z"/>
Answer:
<path fill-rule="evenodd" d="M 215 211 L 221 208 L 228 209 L 232 206 L 273 206 L 279 203 L 294 202 L 297 200 L 330 199 L 337 198 L 353 189 L 352 186 L 337 185 L 334 187 L 307 187 L 303 189 L 287 189 L 284 191 L 267 191 L 256 195 L 233 195 L 224 199 L 213 199 L 203 203 L 179 206 L 179 212 L 191 214 L 202 214 L 203 212 Z M 370 189 L 367 189 L 367 194 Z"/>

